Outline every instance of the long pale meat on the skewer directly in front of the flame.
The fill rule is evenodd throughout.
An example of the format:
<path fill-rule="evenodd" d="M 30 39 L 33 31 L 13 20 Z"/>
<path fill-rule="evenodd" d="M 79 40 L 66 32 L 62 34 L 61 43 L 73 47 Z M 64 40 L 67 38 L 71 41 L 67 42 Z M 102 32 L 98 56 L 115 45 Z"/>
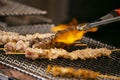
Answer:
<path fill-rule="evenodd" d="M 31 59 L 38 59 L 38 58 L 48 58 L 51 59 L 57 59 L 57 58 L 66 58 L 70 60 L 77 60 L 77 59 L 90 59 L 90 58 L 97 58 L 101 56 L 110 56 L 111 50 L 106 48 L 99 48 L 99 49 L 82 49 L 82 50 L 76 50 L 72 52 L 67 52 L 64 49 L 33 49 L 33 48 L 27 48 L 25 50 L 25 56 L 27 58 Z M 38 55 L 37 57 L 33 57 L 31 55 Z"/>

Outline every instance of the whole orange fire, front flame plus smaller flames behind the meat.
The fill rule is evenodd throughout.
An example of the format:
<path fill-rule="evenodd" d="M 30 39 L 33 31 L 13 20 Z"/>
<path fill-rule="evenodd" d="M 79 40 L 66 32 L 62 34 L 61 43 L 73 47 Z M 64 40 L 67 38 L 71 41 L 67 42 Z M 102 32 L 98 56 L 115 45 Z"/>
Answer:
<path fill-rule="evenodd" d="M 60 24 L 56 27 L 53 27 L 51 30 L 53 32 L 58 32 L 58 34 L 55 37 L 55 42 L 62 42 L 65 44 L 72 44 L 74 43 L 76 40 L 81 40 L 82 37 L 84 36 L 85 33 L 87 32 L 96 32 L 97 28 L 91 28 L 89 30 L 86 31 L 79 31 L 76 28 L 76 26 L 78 25 L 78 22 L 76 19 L 73 19 L 70 23 L 68 24 Z M 86 23 L 82 23 L 82 25 L 86 25 Z M 71 28 L 71 27 L 75 27 L 75 28 Z M 71 28 L 71 29 L 70 29 Z"/>

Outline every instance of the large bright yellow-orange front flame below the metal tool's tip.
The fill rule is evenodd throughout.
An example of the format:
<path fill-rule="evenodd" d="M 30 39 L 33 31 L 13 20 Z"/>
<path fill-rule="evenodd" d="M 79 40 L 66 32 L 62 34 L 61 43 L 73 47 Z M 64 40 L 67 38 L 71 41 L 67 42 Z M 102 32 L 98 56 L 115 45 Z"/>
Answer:
<path fill-rule="evenodd" d="M 96 32 L 96 31 L 97 31 L 97 28 L 92 28 L 92 29 L 87 30 L 87 31 L 84 31 L 84 30 L 78 31 L 76 29 L 63 31 L 63 32 L 61 31 L 60 33 L 58 33 L 58 35 L 56 35 L 55 42 L 72 44 L 76 40 L 81 40 L 85 33 Z"/>

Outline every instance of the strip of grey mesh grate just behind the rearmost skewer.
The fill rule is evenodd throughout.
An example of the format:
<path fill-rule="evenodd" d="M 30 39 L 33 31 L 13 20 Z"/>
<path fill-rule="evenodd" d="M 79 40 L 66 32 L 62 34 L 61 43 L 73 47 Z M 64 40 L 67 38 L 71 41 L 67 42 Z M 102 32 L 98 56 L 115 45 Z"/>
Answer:
<path fill-rule="evenodd" d="M 19 34 L 34 34 L 38 33 L 50 33 L 51 27 L 54 24 L 36 24 L 36 25 L 23 25 L 23 26 L 12 26 L 12 27 L 4 27 L 4 31 L 17 32 Z"/>

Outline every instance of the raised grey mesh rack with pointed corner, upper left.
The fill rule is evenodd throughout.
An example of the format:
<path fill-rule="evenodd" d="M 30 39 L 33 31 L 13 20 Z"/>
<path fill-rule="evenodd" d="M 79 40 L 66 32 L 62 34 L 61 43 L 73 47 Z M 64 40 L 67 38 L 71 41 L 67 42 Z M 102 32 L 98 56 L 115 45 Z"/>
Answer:
<path fill-rule="evenodd" d="M 10 0 L 0 0 L 0 16 L 43 15 L 46 11 L 36 9 Z"/>

